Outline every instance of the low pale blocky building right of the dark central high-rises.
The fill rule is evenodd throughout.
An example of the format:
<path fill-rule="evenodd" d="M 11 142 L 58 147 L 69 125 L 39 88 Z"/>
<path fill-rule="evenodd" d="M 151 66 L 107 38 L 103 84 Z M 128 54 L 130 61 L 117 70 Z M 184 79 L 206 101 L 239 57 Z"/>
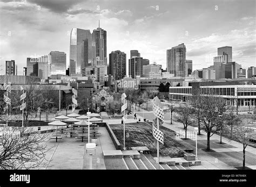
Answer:
<path fill-rule="evenodd" d="M 160 65 L 154 62 L 153 64 L 147 64 L 143 66 L 143 77 L 160 78 L 161 70 Z"/>

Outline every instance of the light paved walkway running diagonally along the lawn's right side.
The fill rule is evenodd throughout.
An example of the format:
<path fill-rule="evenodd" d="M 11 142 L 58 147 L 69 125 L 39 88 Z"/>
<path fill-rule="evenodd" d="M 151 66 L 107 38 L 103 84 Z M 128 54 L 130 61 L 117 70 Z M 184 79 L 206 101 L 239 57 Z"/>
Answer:
<path fill-rule="evenodd" d="M 134 108 L 133 108 L 134 111 Z M 138 114 L 138 118 L 144 117 L 151 120 L 154 119 L 153 112 L 149 112 L 143 109 L 138 111 L 138 107 L 136 107 L 135 112 Z M 184 127 L 183 124 L 178 123 L 176 121 L 172 121 L 172 125 L 170 124 L 170 113 L 165 113 L 164 115 L 164 124 L 166 128 L 169 128 L 172 131 L 183 132 Z M 188 126 L 187 134 L 193 133 L 194 127 Z M 235 169 L 234 167 L 242 166 L 242 144 L 236 141 L 231 141 L 228 138 L 222 137 L 223 144 L 220 144 L 220 136 L 218 134 L 214 134 L 210 139 L 210 147 L 213 152 L 205 152 L 204 148 L 206 148 L 206 140 L 207 136 L 204 131 L 201 131 L 201 135 L 198 135 L 198 159 L 201 160 L 201 166 L 193 166 L 193 169 Z M 181 141 L 183 145 L 186 147 L 196 148 L 195 140 L 181 140 L 177 138 L 177 140 Z M 246 148 L 246 166 L 251 169 L 256 168 L 256 149 L 247 146 Z"/>

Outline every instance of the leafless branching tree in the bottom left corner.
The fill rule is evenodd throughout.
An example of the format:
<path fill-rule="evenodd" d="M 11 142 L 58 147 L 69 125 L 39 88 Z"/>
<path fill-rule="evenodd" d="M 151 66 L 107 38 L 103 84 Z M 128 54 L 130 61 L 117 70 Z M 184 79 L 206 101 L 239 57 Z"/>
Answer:
<path fill-rule="evenodd" d="M 3 128 L 0 146 L 0 169 L 34 169 L 42 165 L 46 152 L 45 141 L 48 134 L 38 134 L 30 127 Z"/>

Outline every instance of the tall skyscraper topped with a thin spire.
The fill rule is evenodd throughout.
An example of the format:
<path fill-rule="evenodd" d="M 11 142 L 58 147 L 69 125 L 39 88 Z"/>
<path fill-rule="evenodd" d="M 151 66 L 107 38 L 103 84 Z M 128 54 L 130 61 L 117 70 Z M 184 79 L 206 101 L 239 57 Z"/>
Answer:
<path fill-rule="evenodd" d="M 106 31 L 98 27 L 92 32 L 93 45 L 95 42 L 96 61 L 93 61 L 92 66 L 107 66 L 107 40 Z"/>

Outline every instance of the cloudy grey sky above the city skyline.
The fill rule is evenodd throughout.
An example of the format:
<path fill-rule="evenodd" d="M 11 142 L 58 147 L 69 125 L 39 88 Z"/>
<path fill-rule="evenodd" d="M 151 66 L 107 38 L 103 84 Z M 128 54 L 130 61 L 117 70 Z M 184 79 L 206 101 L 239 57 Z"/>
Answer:
<path fill-rule="evenodd" d="M 66 53 L 72 28 L 107 31 L 107 58 L 120 50 L 166 68 L 166 49 L 184 43 L 193 70 L 213 65 L 217 48 L 232 46 L 233 61 L 256 66 L 255 0 L 0 0 L 0 74 L 15 60 L 23 75 L 26 57 Z"/>

